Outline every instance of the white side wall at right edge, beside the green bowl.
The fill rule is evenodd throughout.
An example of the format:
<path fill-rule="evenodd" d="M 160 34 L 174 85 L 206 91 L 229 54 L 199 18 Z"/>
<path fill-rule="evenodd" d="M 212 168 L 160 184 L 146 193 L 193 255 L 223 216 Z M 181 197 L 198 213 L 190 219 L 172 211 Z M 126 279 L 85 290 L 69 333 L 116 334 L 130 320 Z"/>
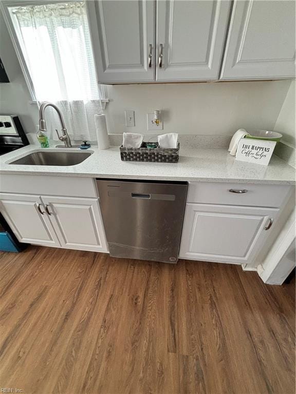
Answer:
<path fill-rule="evenodd" d="M 283 103 L 282 109 L 276 120 L 274 131 L 283 134 L 283 140 L 295 147 L 295 81 L 290 87 Z"/>

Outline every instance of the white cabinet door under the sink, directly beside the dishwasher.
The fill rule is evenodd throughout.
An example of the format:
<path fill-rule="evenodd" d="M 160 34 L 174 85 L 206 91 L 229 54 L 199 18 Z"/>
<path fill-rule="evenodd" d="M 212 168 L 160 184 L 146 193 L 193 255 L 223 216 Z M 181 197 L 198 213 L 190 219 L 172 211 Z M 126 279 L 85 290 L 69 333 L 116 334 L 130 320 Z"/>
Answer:
<path fill-rule="evenodd" d="M 107 252 L 98 199 L 42 196 L 61 246 Z"/>

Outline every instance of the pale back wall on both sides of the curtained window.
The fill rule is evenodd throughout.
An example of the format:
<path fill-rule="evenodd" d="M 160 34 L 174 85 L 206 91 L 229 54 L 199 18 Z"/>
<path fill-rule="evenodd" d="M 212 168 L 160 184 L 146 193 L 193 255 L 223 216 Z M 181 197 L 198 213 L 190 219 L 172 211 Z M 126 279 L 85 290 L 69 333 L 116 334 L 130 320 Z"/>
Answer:
<path fill-rule="evenodd" d="M 11 81 L 0 84 L 0 113 L 19 115 L 25 131 L 34 132 L 38 107 L 29 104 L 1 12 L 0 56 Z M 147 134 L 146 113 L 160 109 L 163 132 L 231 135 L 241 127 L 273 130 L 289 86 L 290 81 L 108 86 L 108 129 L 109 133 Z M 125 109 L 135 110 L 136 127 L 124 126 Z"/>

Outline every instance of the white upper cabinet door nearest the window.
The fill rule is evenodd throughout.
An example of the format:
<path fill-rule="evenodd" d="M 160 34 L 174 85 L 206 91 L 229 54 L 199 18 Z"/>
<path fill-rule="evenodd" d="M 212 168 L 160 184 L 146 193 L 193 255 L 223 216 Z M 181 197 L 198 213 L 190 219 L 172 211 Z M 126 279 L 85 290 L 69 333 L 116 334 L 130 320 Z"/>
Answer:
<path fill-rule="evenodd" d="M 155 80 L 155 2 L 88 1 L 99 83 Z"/>

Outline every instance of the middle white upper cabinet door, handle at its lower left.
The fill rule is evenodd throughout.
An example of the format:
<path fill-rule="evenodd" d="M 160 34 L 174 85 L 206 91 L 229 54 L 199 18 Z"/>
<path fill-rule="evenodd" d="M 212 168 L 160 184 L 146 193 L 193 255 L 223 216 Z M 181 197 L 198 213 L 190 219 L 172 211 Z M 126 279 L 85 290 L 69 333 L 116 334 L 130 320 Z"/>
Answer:
<path fill-rule="evenodd" d="M 217 80 L 229 10 L 229 1 L 158 1 L 156 81 Z"/>

